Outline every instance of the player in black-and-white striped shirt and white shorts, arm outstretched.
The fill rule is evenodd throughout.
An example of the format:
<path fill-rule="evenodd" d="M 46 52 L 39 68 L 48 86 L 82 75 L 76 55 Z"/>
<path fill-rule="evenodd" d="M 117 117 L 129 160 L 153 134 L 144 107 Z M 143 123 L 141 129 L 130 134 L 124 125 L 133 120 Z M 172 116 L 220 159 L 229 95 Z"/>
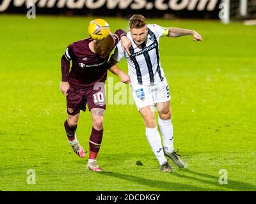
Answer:
<path fill-rule="evenodd" d="M 109 68 L 122 82 L 130 84 L 132 96 L 144 120 L 148 143 L 159 161 L 160 170 L 168 173 L 173 170 L 164 155 L 170 157 L 180 168 L 184 168 L 184 163 L 173 149 L 171 96 L 159 59 L 159 38 L 186 35 L 193 36 L 195 41 L 202 41 L 202 37 L 196 31 L 146 24 L 142 15 L 133 15 L 129 19 L 129 33 L 127 33 L 127 38 L 132 41 L 130 53 L 125 52 L 118 43 L 111 56 L 112 66 Z M 128 75 L 116 66 L 123 57 L 128 63 Z M 163 138 L 163 146 L 157 131 L 154 106 L 158 112 L 158 126 Z"/>

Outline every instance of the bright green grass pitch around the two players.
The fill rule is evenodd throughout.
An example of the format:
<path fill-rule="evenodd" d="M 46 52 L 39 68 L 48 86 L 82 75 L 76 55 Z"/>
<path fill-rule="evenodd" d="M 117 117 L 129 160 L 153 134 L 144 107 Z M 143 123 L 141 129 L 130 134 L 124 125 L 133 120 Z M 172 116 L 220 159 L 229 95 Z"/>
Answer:
<path fill-rule="evenodd" d="M 255 191 L 255 26 L 148 19 L 195 29 L 204 39 L 159 43 L 172 94 L 174 146 L 187 168 L 172 165 L 175 173 L 161 173 L 136 106 L 107 105 L 98 158 L 104 173 L 95 173 L 86 170 L 88 154 L 80 159 L 68 145 L 59 90 L 61 55 L 88 36 L 92 18 L 0 15 L 0 191 Z M 111 31 L 127 30 L 127 19 L 105 19 Z M 127 71 L 125 61 L 119 66 Z M 87 151 L 91 129 L 90 113 L 82 112 L 77 137 Z M 27 184 L 29 169 L 36 172 L 35 185 Z M 221 169 L 228 184 L 219 184 Z"/>

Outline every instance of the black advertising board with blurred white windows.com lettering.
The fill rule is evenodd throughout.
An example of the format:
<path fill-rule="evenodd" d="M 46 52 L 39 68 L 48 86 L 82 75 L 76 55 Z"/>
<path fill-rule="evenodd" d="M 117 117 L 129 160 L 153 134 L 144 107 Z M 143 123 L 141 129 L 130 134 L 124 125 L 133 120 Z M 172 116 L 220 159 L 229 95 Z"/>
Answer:
<path fill-rule="evenodd" d="M 26 13 L 34 3 L 36 14 L 129 17 L 218 18 L 220 0 L 0 0 L 0 13 Z"/>

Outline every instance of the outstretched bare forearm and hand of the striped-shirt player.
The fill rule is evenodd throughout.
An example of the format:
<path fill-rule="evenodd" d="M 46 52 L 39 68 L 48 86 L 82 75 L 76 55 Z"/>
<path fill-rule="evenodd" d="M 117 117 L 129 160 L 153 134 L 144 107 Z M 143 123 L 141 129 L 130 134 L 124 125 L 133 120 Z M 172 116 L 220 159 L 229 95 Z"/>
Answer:
<path fill-rule="evenodd" d="M 193 36 L 194 41 L 202 41 L 202 36 L 196 31 L 181 29 L 179 27 L 168 27 L 168 37 Z"/>

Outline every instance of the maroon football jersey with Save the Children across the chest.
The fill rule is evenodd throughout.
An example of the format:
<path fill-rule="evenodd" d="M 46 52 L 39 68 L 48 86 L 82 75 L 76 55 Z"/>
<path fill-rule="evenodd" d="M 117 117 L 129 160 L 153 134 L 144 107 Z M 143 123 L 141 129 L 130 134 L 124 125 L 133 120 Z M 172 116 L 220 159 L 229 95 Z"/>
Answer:
<path fill-rule="evenodd" d="M 124 34 L 126 33 L 122 30 L 117 30 L 113 34 L 115 45 Z M 72 68 L 68 76 L 68 82 L 72 87 L 92 87 L 97 82 L 106 81 L 109 55 L 102 59 L 98 54 L 93 53 L 89 48 L 91 41 L 92 38 L 79 40 L 68 45 L 66 49 L 66 59 L 72 60 Z"/>

